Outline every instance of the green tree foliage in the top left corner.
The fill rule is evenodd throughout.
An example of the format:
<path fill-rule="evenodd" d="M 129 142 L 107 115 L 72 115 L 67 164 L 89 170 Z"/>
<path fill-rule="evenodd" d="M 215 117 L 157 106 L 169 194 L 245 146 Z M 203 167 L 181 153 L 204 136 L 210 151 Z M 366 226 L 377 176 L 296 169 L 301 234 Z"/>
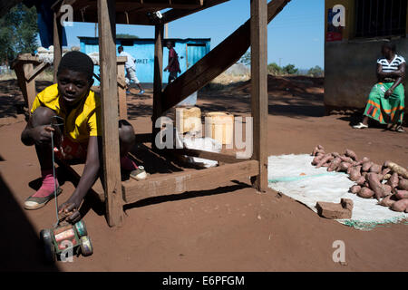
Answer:
<path fill-rule="evenodd" d="M 34 53 L 37 34 L 35 7 L 15 5 L 0 18 L 0 63 L 15 59 L 18 53 Z"/>

